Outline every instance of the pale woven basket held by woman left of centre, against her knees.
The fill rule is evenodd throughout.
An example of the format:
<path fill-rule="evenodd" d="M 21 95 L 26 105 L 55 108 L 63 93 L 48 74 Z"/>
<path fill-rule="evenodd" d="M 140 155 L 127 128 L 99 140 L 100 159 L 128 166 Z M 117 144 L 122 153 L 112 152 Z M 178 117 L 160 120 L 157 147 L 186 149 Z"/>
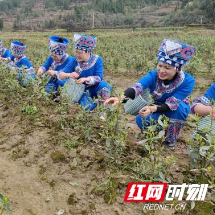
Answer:
<path fill-rule="evenodd" d="M 78 102 L 84 90 L 84 84 L 76 84 L 73 78 L 69 78 L 63 87 L 63 97 L 68 98 L 71 102 Z"/>

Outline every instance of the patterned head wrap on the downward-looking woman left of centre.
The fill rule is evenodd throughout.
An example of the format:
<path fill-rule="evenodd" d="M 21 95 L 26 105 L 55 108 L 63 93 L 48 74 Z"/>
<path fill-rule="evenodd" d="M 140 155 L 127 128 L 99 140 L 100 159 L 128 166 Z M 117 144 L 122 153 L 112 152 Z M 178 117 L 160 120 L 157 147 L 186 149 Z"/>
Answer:
<path fill-rule="evenodd" d="M 91 52 L 96 47 L 97 37 L 74 34 L 73 43 L 75 49 Z"/>

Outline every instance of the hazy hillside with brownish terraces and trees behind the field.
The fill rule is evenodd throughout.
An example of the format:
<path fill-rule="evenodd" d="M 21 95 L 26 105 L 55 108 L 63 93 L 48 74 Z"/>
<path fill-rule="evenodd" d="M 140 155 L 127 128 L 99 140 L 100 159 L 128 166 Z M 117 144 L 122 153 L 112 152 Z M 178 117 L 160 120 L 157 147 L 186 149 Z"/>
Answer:
<path fill-rule="evenodd" d="M 0 2 L 0 19 L 4 28 L 10 30 L 163 26 L 172 25 L 168 24 L 169 16 L 192 8 L 190 3 L 189 0 L 4 0 Z"/>

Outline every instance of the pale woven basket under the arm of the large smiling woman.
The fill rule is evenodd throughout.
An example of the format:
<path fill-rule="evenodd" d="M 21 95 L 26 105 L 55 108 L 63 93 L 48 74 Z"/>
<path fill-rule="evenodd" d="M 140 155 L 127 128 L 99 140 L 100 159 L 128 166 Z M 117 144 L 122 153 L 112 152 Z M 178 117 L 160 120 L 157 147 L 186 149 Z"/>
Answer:
<path fill-rule="evenodd" d="M 131 115 L 137 115 L 139 111 L 146 105 L 150 105 L 152 99 L 150 97 L 149 89 L 145 89 L 143 93 L 137 96 L 134 100 L 129 99 L 125 105 L 125 113 Z"/>

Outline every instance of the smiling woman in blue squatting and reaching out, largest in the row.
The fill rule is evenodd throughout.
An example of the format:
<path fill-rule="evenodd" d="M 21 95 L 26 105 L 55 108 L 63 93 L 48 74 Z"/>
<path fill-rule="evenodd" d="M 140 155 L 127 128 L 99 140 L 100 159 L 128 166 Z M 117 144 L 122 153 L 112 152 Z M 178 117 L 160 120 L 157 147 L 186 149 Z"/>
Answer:
<path fill-rule="evenodd" d="M 165 147 L 175 147 L 176 139 L 190 112 L 186 97 L 193 91 L 195 80 L 182 70 L 182 66 L 193 57 L 194 52 L 195 48 L 191 45 L 164 39 L 158 52 L 157 68 L 124 92 L 125 99 L 134 99 L 149 88 L 155 105 L 142 108 L 136 117 L 136 123 L 140 129 L 145 129 L 149 126 L 150 119 L 157 120 L 162 114 L 167 116 L 169 126 L 163 143 Z M 105 101 L 105 106 L 117 103 L 119 99 L 114 97 Z"/>

